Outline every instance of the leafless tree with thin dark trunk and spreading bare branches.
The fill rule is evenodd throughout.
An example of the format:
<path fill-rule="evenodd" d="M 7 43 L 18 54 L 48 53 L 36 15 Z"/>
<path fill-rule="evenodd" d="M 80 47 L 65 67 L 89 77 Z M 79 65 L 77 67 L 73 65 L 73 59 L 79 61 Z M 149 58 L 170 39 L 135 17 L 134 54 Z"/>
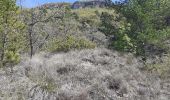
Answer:
<path fill-rule="evenodd" d="M 46 32 L 46 36 L 41 38 L 41 42 L 37 44 L 39 40 L 39 34 L 43 32 L 45 29 L 36 30 L 36 26 L 45 25 L 48 22 L 52 22 L 58 19 L 62 19 L 62 10 L 61 8 L 56 8 L 54 10 L 46 9 L 43 6 L 39 6 L 36 8 L 31 8 L 23 11 L 22 13 L 23 20 L 27 26 L 27 41 L 28 41 L 28 48 L 30 49 L 30 57 L 34 55 L 37 48 L 41 48 L 45 41 L 50 37 L 51 34 Z M 39 27 L 38 27 L 39 28 Z M 38 32 L 37 32 L 38 31 Z"/>

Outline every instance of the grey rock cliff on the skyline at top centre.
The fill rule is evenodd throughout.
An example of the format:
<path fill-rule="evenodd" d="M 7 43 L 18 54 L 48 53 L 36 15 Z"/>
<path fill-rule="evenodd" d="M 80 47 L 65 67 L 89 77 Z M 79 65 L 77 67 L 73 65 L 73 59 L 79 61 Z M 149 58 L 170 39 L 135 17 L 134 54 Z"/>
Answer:
<path fill-rule="evenodd" d="M 76 1 L 73 3 L 72 8 L 86 8 L 86 7 L 105 7 L 107 2 L 105 0 L 86 0 L 86 1 Z"/>

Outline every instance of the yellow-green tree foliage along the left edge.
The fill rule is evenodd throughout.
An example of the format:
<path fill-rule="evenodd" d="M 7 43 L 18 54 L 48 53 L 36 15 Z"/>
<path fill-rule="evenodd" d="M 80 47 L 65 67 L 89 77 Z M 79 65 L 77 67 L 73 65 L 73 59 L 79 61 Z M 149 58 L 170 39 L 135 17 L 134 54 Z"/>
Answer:
<path fill-rule="evenodd" d="M 17 64 L 19 52 L 24 47 L 24 24 L 19 21 L 15 0 L 0 2 L 0 56 L 3 66 Z"/>

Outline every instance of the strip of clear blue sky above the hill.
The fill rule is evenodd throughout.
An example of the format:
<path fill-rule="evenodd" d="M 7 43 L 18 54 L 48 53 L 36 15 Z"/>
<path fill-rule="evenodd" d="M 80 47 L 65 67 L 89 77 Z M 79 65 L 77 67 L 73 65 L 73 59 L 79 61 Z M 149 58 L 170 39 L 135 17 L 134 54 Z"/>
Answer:
<path fill-rule="evenodd" d="M 31 8 L 31 7 L 42 5 L 45 3 L 52 3 L 52 2 L 71 2 L 72 3 L 74 1 L 76 0 L 18 0 L 17 4 L 22 5 L 23 7 L 26 7 L 26 8 Z M 118 1 L 118 0 L 113 0 L 113 1 Z"/>

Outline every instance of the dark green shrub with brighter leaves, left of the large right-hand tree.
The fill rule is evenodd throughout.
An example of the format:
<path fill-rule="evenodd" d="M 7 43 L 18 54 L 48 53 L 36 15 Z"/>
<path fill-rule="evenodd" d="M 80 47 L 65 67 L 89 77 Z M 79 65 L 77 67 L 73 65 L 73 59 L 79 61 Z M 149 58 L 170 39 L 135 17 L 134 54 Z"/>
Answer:
<path fill-rule="evenodd" d="M 109 14 L 103 12 L 101 14 L 101 24 L 99 30 L 107 36 L 114 36 L 111 46 L 119 51 L 134 51 L 134 45 L 128 36 L 130 24 L 121 15 Z"/>

